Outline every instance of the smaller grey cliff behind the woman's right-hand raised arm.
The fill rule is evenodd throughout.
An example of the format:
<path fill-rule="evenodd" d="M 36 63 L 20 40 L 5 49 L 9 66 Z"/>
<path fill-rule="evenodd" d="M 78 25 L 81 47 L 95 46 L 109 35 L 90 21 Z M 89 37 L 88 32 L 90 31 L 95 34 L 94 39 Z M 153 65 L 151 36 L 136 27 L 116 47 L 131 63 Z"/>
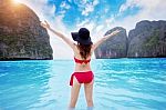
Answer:
<path fill-rule="evenodd" d="M 121 27 L 116 27 L 105 34 L 110 34 L 114 30 L 121 30 L 121 32 L 114 37 L 107 39 L 95 50 L 96 58 L 125 58 L 127 54 L 127 36 L 126 30 Z"/>

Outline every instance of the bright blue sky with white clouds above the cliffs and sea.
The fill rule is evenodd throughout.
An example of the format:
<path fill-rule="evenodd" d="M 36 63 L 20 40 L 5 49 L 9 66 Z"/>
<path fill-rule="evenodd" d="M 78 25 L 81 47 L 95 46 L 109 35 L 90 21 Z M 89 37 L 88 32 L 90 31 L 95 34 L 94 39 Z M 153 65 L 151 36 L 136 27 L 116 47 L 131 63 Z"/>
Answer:
<path fill-rule="evenodd" d="M 85 27 L 95 42 L 115 27 L 128 32 L 142 20 L 166 20 L 165 0 L 13 0 L 30 7 L 40 18 L 72 40 L 71 32 Z M 54 59 L 72 59 L 73 52 L 52 32 Z"/>

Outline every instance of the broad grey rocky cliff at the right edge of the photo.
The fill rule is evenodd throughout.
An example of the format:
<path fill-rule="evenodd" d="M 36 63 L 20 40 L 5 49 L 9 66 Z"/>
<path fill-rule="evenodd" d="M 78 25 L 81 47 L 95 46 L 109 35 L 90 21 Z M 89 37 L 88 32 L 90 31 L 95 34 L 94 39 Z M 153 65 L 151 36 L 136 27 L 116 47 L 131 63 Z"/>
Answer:
<path fill-rule="evenodd" d="M 166 21 L 141 21 L 128 33 L 127 57 L 166 57 Z"/>

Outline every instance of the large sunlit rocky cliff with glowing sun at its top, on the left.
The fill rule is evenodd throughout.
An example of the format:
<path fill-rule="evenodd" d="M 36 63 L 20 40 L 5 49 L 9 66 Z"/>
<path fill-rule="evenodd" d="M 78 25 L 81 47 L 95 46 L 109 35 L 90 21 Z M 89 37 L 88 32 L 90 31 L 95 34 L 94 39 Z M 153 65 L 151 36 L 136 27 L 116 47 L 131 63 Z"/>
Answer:
<path fill-rule="evenodd" d="M 0 60 L 52 59 L 46 30 L 24 4 L 0 0 Z"/>

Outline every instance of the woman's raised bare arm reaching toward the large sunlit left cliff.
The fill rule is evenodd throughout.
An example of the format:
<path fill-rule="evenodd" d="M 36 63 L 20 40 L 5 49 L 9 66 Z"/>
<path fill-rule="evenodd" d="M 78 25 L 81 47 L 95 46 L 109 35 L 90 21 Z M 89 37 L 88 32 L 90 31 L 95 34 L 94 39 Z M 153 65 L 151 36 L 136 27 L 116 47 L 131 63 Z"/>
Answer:
<path fill-rule="evenodd" d="M 63 41 L 65 41 L 72 49 L 74 48 L 74 42 L 72 42 L 69 38 L 66 38 L 64 34 L 62 34 L 61 32 L 53 30 L 50 24 L 44 21 L 41 22 L 41 26 L 50 31 L 52 31 L 54 34 L 56 34 L 59 38 L 61 38 Z"/>

